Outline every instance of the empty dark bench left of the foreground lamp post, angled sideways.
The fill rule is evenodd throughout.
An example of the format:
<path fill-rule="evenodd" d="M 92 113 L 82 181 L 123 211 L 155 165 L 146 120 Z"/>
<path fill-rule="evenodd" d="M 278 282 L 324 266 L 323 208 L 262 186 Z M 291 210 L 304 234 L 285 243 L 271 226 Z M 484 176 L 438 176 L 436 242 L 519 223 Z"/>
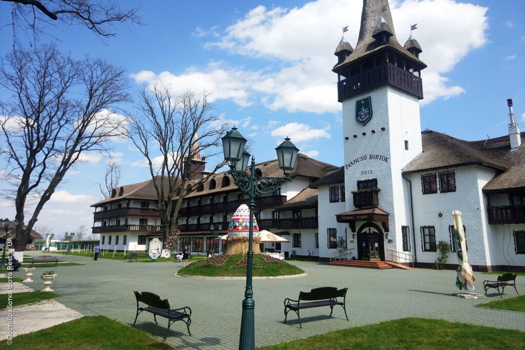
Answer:
<path fill-rule="evenodd" d="M 185 306 L 178 309 L 171 309 L 170 303 L 167 301 L 167 299 L 161 300 L 159 295 L 150 292 L 140 293 L 134 291 L 133 293 L 135 293 L 135 298 L 137 298 L 137 316 L 135 316 L 133 327 L 135 327 L 135 323 L 137 323 L 137 317 L 139 317 L 139 314 L 142 311 L 146 311 L 153 314 L 155 324 L 158 324 L 156 316 L 162 316 L 167 319 L 167 329 L 166 334 L 164 335 L 164 341 L 166 340 L 167 332 L 170 330 L 170 326 L 177 321 L 183 321 L 186 323 L 188 334 L 192 335 L 190 332 L 190 324 L 192 323 L 192 309 L 190 309 L 190 307 Z M 147 306 L 141 306 L 139 302 Z"/>

